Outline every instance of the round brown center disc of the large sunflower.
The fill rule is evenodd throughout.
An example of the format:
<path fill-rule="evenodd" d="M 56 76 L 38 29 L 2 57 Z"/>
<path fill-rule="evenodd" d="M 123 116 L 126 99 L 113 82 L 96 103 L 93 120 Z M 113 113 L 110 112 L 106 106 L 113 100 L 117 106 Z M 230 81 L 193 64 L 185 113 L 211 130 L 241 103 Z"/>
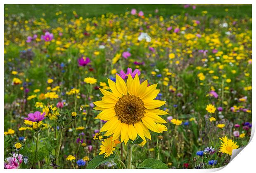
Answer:
<path fill-rule="evenodd" d="M 116 103 L 115 112 L 122 123 L 135 124 L 144 117 L 145 107 L 140 98 L 127 94 Z"/>

